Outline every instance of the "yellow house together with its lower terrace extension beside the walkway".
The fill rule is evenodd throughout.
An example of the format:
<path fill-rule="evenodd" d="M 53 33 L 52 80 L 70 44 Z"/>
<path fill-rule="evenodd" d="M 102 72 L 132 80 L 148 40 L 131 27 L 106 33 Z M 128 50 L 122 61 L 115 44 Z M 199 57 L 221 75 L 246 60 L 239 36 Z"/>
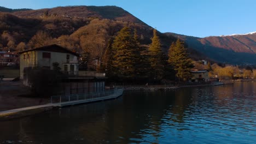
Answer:
<path fill-rule="evenodd" d="M 105 74 L 96 71 L 79 71 L 79 55 L 59 45 L 49 45 L 20 52 L 20 79 L 30 86 L 26 69 L 41 67 L 53 69 L 53 63 L 59 63 L 62 73 L 68 77 L 62 79 L 56 87 L 55 95 L 69 95 L 105 91 Z"/>

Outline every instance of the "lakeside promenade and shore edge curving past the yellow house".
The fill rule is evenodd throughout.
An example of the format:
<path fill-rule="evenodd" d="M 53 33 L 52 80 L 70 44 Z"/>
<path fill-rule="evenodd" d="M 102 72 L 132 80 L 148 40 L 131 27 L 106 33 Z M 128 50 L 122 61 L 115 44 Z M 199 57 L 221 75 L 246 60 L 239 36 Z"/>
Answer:
<path fill-rule="evenodd" d="M 77 104 L 85 104 L 85 103 L 92 103 L 96 101 L 108 100 L 108 99 L 115 99 L 120 97 L 123 94 L 123 91 L 157 91 L 157 90 L 174 90 L 182 87 L 196 87 L 196 86 L 214 86 L 214 85 L 223 85 L 222 82 L 214 82 L 214 83 L 204 83 L 198 85 L 184 85 L 184 86 L 166 86 L 166 85 L 154 85 L 154 86 L 126 86 L 121 89 L 116 89 L 113 93 L 104 92 L 105 94 L 102 95 L 101 93 L 94 93 L 94 95 L 90 94 L 77 94 L 77 95 L 68 95 L 68 96 L 57 96 L 57 101 L 54 101 L 49 104 L 43 105 L 36 105 L 36 106 L 28 106 L 22 107 L 20 109 L 13 109 L 7 111 L 0 112 L 0 120 L 8 120 L 11 118 L 18 118 L 18 117 L 25 117 L 29 115 L 34 115 L 36 113 L 48 111 L 54 109 L 54 107 L 63 107 L 63 106 L 70 106 L 70 105 L 77 105 Z M 70 100 L 71 97 L 75 97 L 77 99 Z M 55 96 L 56 98 L 56 96 Z M 65 101 L 65 99 L 68 99 Z M 73 98 L 72 98 L 73 99 Z"/>

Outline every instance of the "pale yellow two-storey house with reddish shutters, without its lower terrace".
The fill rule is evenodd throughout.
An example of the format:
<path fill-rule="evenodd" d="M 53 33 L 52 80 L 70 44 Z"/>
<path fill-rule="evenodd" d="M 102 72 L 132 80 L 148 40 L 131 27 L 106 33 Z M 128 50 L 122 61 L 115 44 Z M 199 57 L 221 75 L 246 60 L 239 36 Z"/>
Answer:
<path fill-rule="evenodd" d="M 26 79 L 24 69 L 43 67 L 53 69 L 53 63 L 59 63 L 61 71 L 69 75 L 78 75 L 78 54 L 59 45 L 48 45 L 26 50 L 20 53 L 20 79 Z"/>

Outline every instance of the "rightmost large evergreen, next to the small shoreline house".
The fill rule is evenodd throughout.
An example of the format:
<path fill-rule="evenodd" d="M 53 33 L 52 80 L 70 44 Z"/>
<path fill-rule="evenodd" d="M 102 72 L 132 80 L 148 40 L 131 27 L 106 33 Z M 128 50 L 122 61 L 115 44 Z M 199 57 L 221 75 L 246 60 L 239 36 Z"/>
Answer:
<path fill-rule="evenodd" d="M 188 79 L 190 76 L 190 69 L 193 68 L 191 59 L 188 57 L 187 50 L 184 47 L 184 42 L 177 40 L 176 43 L 172 43 L 168 50 L 168 63 L 172 65 L 176 71 L 176 77 L 178 80 Z"/>

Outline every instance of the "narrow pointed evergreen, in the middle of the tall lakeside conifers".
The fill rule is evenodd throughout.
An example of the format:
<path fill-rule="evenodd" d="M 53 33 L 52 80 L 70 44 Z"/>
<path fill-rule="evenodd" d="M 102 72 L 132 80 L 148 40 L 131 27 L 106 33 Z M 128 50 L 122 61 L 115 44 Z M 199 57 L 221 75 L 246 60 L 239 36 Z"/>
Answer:
<path fill-rule="evenodd" d="M 164 75 L 163 53 L 160 39 L 156 34 L 156 29 L 154 29 L 153 33 L 154 35 L 151 39 L 152 44 L 149 46 L 150 76 L 154 77 L 156 80 L 161 80 Z"/>

